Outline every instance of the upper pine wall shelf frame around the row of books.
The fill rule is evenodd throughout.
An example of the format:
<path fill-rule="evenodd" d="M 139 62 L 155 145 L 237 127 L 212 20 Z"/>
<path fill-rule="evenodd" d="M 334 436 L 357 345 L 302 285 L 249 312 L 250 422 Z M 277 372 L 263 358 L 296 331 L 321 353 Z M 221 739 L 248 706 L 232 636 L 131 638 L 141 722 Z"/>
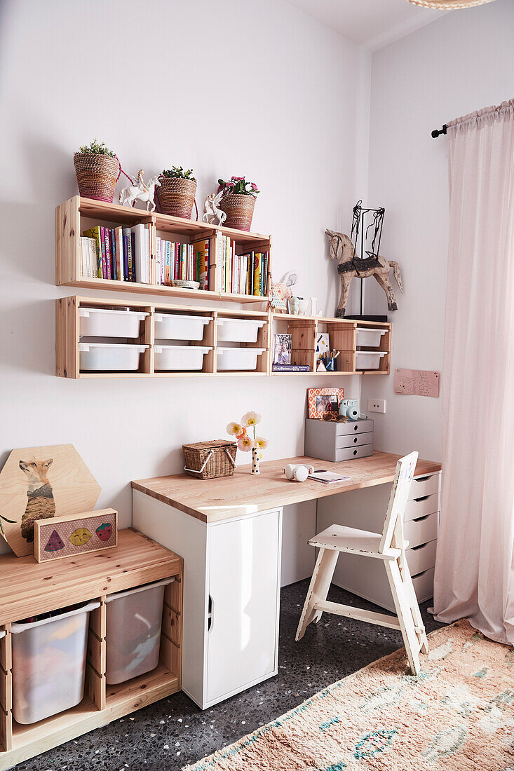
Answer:
<path fill-rule="evenodd" d="M 267 251 L 268 288 L 271 286 L 271 236 L 264 236 L 245 231 L 236 231 L 232 227 L 217 227 L 204 222 L 170 217 L 167 214 L 150 214 L 143 209 L 135 209 L 118 204 L 107 204 L 90 198 L 75 196 L 56 207 L 56 285 L 75 286 L 90 289 L 108 289 L 109 291 L 129 291 L 140 295 L 160 295 L 167 298 L 187 297 L 202 301 L 223 300 L 237 303 L 267 303 L 268 296 L 238 295 L 223 291 L 191 290 L 161 284 L 139 284 L 134 281 L 112 281 L 107 278 L 87 278 L 82 275 L 80 266 L 80 237 L 90 227 L 103 225 L 115 227 L 133 227 L 136 224 L 148 224 L 150 227 L 150 261 L 155 262 L 156 238 L 161 236 L 171 241 L 194 243 L 200 239 L 211 241 L 211 265 L 209 282 L 216 287 L 219 266 L 212 255 L 217 254 L 218 237 L 228 236 L 235 241 L 236 254 L 249 251 Z"/>

